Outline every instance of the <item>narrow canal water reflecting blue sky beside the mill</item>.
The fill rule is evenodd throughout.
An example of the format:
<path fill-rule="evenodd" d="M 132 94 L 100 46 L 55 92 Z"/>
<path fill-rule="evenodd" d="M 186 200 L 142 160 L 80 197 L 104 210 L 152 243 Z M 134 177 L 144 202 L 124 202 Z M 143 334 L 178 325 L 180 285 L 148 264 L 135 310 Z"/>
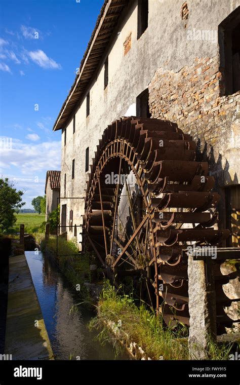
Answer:
<path fill-rule="evenodd" d="M 109 342 L 103 346 L 96 338 L 97 332 L 88 330 L 88 323 L 94 313 L 81 302 L 57 266 L 41 252 L 25 251 L 41 305 L 54 357 L 57 360 L 129 360 L 126 351 L 118 354 L 119 345 L 113 348 Z"/>

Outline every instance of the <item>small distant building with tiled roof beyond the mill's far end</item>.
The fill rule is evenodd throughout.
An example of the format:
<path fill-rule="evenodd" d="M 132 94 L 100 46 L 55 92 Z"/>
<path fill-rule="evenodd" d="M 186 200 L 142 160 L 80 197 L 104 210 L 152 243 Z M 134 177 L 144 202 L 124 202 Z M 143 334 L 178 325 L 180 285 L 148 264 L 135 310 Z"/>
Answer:
<path fill-rule="evenodd" d="M 57 198 L 60 197 L 61 171 L 47 171 L 46 194 L 46 220 L 50 213 L 57 208 Z"/>

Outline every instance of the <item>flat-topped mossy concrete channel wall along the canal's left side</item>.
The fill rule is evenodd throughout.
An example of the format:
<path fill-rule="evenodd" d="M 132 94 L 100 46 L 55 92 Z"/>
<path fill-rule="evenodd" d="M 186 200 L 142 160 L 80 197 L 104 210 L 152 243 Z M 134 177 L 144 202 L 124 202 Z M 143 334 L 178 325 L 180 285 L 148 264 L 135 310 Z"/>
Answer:
<path fill-rule="evenodd" d="M 9 258 L 5 355 L 53 360 L 53 352 L 25 255 Z"/>

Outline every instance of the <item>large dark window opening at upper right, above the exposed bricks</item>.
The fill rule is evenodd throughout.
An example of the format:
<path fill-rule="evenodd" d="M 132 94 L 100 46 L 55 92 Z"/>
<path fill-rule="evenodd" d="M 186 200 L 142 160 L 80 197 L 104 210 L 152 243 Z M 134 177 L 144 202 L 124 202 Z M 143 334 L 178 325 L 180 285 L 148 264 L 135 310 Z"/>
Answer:
<path fill-rule="evenodd" d="M 222 90 L 224 95 L 231 95 L 240 90 L 240 7 L 221 22 L 218 40 Z"/>

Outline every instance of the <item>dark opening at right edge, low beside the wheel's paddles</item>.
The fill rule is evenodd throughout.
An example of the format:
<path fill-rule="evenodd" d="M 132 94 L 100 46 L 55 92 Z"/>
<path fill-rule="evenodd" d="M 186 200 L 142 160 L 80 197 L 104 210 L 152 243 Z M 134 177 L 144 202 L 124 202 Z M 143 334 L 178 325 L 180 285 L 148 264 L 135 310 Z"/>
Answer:
<path fill-rule="evenodd" d="M 231 232 L 227 247 L 240 247 L 240 184 L 225 189 L 226 228 Z"/>

